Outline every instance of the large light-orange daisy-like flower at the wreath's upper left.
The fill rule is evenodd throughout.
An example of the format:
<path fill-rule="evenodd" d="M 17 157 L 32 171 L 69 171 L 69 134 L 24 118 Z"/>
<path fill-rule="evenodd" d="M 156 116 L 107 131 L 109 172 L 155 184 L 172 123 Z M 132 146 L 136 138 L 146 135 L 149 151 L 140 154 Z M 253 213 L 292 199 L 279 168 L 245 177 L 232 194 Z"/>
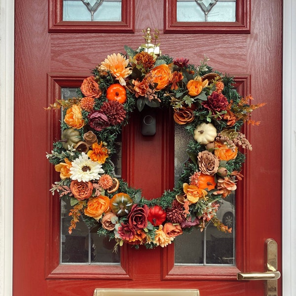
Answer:
<path fill-rule="evenodd" d="M 101 63 L 100 71 L 110 71 L 110 73 L 119 80 L 121 85 L 126 85 L 125 78 L 132 73 L 130 67 L 127 67 L 129 60 L 120 53 L 115 53 L 107 56 L 104 62 Z"/>

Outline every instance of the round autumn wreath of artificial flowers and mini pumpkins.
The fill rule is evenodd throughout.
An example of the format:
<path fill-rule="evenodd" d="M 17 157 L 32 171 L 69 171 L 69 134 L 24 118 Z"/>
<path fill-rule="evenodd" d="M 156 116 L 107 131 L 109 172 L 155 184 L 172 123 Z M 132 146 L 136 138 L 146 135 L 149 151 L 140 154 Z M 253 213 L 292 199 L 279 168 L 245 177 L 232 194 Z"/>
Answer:
<path fill-rule="evenodd" d="M 126 54 L 111 54 L 84 79 L 76 98 L 56 100 L 47 108 L 62 107 L 64 113 L 61 140 L 46 157 L 60 173 L 52 193 L 71 199 L 69 233 L 81 215 L 120 246 L 165 247 L 192 227 L 202 231 L 209 221 L 231 232 L 216 212 L 243 177 L 245 155 L 238 148 L 252 149 L 241 127 L 258 125 L 251 112 L 264 104 L 242 98 L 233 78 L 214 72 L 206 58 L 195 66 L 147 47 L 125 46 Z M 175 122 L 192 135 L 180 179 L 153 200 L 117 179 L 110 160 L 121 126 L 145 105 L 172 108 Z"/>

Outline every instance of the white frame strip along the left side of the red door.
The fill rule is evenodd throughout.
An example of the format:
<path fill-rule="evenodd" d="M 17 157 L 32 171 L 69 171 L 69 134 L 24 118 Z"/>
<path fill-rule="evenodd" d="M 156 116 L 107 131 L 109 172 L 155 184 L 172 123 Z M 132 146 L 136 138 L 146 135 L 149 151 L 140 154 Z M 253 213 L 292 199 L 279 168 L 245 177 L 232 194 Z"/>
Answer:
<path fill-rule="evenodd" d="M 12 295 L 14 1 L 0 0 L 0 296 Z"/>

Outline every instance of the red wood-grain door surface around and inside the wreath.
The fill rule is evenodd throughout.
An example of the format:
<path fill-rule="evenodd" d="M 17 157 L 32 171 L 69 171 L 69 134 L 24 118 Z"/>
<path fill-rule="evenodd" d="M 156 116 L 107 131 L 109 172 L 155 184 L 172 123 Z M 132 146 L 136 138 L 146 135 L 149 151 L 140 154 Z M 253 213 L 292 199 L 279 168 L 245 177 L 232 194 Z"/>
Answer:
<path fill-rule="evenodd" d="M 236 272 L 263 271 L 267 238 L 277 241 L 281 258 L 282 1 L 244 1 L 251 8 L 250 34 L 217 33 L 214 29 L 172 31 L 166 12 L 172 2 L 135 0 L 127 8 L 134 15 L 134 28 L 130 26 L 134 33 L 97 33 L 79 31 L 75 26 L 72 31 L 49 30 L 48 14 L 54 7 L 48 0 L 15 1 L 13 295 L 92 296 L 96 288 L 199 289 L 201 296 L 263 295 L 263 281 L 237 281 Z M 93 266 L 59 265 L 59 201 L 49 192 L 52 176 L 45 158 L 51 149 L 53 127 L 43 108 L 50 96 L 58 95 L 59 87 L 77 86 L 107 55 L 123 52 L 124 45 L 136 49 L 143 43 L 142 30 L 148 27 L 160 30 L 163 54 L 188 58 L 192 64 L 206 54 L 211 67 L 239 77 L 245 94 L 252 93 L 256 102 L 267 103 L 254 114 L 253 119 L 261 121 L 259 127 L 247 127 L 253 151 L 247 155 L 245 178 L 239 185 L 241 199 L 236 204 L 236 266 L 178 269 L 172 261 L 173 246 L 165 250 L 125 247 L 121 266 L 101 266 L 99 272 Z M 123 175 L 149 198 L 160 196 L 171 184 L 170 168 L 164 161 L 170 155 L 167 150 L 153 154 L 158 147 L 169 145 L 171 124 L 166 118 L 161 120 L 157 126 L 160 136 L 149 145 L 139 136 L 136 119 L 126 131 Z M 280 270 L 281 262 L 278 267 Z"/>

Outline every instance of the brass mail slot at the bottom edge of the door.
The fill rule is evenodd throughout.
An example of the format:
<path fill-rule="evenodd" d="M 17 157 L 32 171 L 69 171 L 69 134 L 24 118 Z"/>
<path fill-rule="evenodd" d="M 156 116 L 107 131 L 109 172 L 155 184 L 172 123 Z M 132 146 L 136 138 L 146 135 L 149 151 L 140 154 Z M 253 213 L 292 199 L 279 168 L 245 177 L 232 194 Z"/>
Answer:
<path fill-rule="evenodd" d="M 188 289 L 96 289 L 94 296 L 200 296 Z"/>

